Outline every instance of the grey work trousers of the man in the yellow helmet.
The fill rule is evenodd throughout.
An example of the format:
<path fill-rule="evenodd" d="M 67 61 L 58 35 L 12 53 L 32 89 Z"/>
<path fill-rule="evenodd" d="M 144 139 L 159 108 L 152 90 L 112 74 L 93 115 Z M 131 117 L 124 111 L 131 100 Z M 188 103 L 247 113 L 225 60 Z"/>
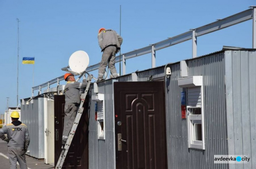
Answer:
<path fill-rule="evenodd" d="M 9 161 L 10 161 L 10 169 L 17 169 L 17 161 L 19 163 L 20 169 L 28 168 L 24 147 L 9 147 L 8 146 L 8 156 L 9 156 Z"/>

